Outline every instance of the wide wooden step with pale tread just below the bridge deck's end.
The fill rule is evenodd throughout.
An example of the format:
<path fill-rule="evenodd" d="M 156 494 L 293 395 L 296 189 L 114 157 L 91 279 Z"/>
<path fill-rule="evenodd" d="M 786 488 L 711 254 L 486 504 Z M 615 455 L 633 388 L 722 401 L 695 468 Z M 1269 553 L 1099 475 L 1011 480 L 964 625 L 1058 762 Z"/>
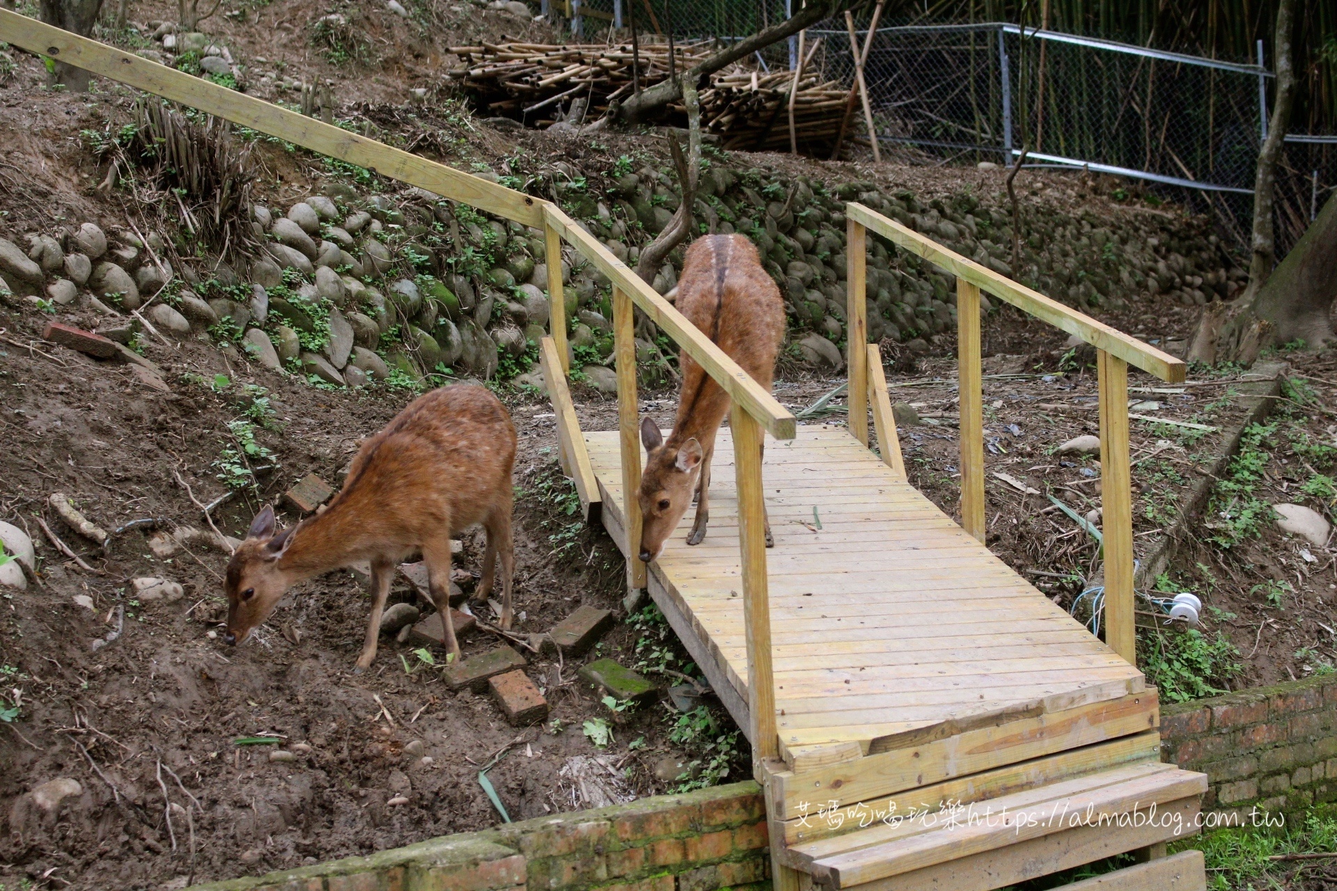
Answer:
<path fill-rule="evenodd" d="M 830 888 L 920 887 L 919 879 L 944 868 L 945 875 L 953 876 L 949 886 L 953 891 L 996 888 L 1009 880 L 1046 875 L 1175 838 L 1177 826 L 1179 834 L 1191 834 L 1195 831 L 1191 819 L 1206 788 L 1205 775 L 1173 764 L 1130 764 L 957 810 L 900 822 L 884 820 L 849 835 L 794 846 L 785 852 L 785 859 L 793 868 L 812 875 L 813 882 Z M 1147 818 L 1152 812 L 1165 819 L 1150 822 Z M 1070 838 L 1063 843 L 1054 836 Z M 1067 863 L 1071 860 L 1068 847 L 1090 848 L 1094 840 L 1107 852 Z M 1038 859 L 1027 850 L 1043 850 L 1046 856 Z M 1015 879 L 992 884 L 1005 874 L 1003 862 L 1013 855 L 1029 860 L 1028 866 Z M 965 860 L 975 863 L 961 863 Z M 1034 871 L 1040 862 L 1064 862 L 1066 866 Z M 995 868 L 1000 864 L 1003 874 Z M 973 870 L 980 875 L 965 880 L 968 876 L 961 867 L 967 866 L 964 872 Z M 886 882 L 893 876 L 894 882 Z"/>

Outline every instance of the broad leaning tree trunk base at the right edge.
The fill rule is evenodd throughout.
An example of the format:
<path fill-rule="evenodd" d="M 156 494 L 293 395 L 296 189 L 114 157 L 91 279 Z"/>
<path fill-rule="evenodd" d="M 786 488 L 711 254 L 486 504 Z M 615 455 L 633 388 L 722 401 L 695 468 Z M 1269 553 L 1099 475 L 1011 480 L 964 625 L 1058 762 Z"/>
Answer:
<path fill-rule="evenodd" d="M 1258 291 L 1253 313 L 1271 322 L 1273 342 L 1304 341 L 1317 350 L 1333 337 L 1337 298 L 1337 194 Z"/>

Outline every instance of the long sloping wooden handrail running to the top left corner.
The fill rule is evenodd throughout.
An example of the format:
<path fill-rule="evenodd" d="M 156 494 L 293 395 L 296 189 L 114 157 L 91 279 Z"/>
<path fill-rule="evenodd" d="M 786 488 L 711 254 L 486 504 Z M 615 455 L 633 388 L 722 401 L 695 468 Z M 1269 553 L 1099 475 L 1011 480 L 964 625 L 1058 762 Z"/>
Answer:
<path fill-rule="evenodd" d="M 80 37 L 45 23 L 0 9 L 0 40 L 29 52 L 51 56 L 95 75 L 179 102 L 262 134 L 358 167 L 381 176 L 425 188 L 489 214 L 525 226 L 543 226 L 543 199 L 439 164 L 366 136 L 350 134 L 322 120 L 221 87 L 213 81 L 160 65 L 142 56 Z"/>

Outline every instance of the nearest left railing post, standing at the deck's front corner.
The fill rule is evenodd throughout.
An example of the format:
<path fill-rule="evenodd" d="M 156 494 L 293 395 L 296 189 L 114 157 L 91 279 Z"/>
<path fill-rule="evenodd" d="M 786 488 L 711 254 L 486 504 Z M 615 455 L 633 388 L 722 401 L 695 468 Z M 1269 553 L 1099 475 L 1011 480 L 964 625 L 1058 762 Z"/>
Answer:
<path fill-rule="evenodd" d="M 761 446 L 765 433 L 737 405 L 729 415 L 738 486 L 738 550 L 743 576 L 747 636 L 747 711 L 751 715 L 753 776 L 763 783 L 762 761 L 779 755 L 775 735 L 775 680 L 770 663 L 770 593 L 766 582 L 766 506 L 762 502 Z"/>

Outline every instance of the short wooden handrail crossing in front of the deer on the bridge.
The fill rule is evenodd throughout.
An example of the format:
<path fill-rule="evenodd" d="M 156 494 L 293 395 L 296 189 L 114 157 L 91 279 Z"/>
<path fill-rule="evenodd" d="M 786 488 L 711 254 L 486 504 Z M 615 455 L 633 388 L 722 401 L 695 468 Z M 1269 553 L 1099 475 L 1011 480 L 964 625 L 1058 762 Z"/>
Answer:
<path fill-rule="evenodd" d="M 650 321 L 664 330 L 687 355 L 695 359 L 706 374 L 713 377 L 725 393 L 743 410 L 766 427 L 777 439 L 793 439 L 796 435 L 794 415 L 782 406 L 763 386 L 751 379 L 737 362 L 729 358 L 701 329 L 674 309 L 652 287 L 640 281 L 626 263 L 619 260 L 598 238 L 582 228 L 567 216 L 562 208 L 544 203 L 543 212 L 548 226 L 568 240 L 580 254 L 599 267 L 599 271 L 612 279 L 612 286 L 631 298 Z M 548 258 L 552 263 L 554 258 Z"/>

